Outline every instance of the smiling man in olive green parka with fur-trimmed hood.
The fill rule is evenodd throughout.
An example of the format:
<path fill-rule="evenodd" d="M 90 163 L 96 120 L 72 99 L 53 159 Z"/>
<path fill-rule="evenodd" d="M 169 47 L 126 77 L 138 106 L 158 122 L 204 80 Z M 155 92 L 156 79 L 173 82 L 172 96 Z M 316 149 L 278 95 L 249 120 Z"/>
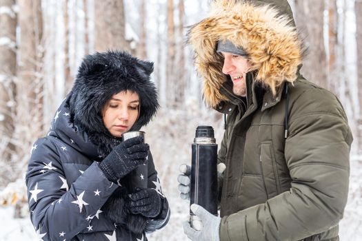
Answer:
<path fill-rule="evenodd" d="M 205 101 L 227 114 L 220 216 L 198 205 L 191 240 L 339 240 L 352 134 L 336 96 L 301 76 L 287 0 L 216 0 L 189 42 Z M 188 198 L 182 166 L 179 190 Z"/>

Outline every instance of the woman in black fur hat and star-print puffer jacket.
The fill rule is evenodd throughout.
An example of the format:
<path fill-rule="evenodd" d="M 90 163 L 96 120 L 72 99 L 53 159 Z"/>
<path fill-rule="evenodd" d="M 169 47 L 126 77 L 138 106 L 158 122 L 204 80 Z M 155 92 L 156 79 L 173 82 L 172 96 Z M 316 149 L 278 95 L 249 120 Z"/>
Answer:
<path fill-rule="evenodd" d="M 125 52 L 86 56 L 50 132 L 31 151 L 26 185 L 42 240 L 147 240 L 170 217 L 148 144 L 139 130 L 159 103 L 153 64 Z M 148 166 L 148 187 L 130 193 L 127 177 Z"/>

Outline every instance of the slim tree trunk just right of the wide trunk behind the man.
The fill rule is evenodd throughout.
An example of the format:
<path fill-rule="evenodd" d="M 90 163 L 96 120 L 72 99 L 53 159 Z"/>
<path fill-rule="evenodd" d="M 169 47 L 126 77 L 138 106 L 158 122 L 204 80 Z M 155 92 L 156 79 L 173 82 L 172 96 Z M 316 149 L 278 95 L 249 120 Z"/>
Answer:
<path fill-rule="evenodd" d="M 336 94 L 336 56 L 338 48 L 338 12 L 336 0 L 328 0 L 328 90 Z"/>

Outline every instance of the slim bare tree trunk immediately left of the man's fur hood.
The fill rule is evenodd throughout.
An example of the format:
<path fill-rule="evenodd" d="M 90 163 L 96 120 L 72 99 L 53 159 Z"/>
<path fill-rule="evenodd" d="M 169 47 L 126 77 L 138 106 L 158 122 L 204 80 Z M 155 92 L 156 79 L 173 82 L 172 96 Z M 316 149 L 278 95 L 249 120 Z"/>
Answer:
<path fill-rule="evenodd" d="M 185 45 L 183 44 L 183 21 L 185 15 L 185 7 L 183 5 L 183 0 L 179 0 L 179 36 L 177 38 L 177 48 L 178 48 L 178 61 L 177 61 L 177 81 L 174 82 L 175 86 L 175 105 L 183 105 L 185 101 Z"/>

